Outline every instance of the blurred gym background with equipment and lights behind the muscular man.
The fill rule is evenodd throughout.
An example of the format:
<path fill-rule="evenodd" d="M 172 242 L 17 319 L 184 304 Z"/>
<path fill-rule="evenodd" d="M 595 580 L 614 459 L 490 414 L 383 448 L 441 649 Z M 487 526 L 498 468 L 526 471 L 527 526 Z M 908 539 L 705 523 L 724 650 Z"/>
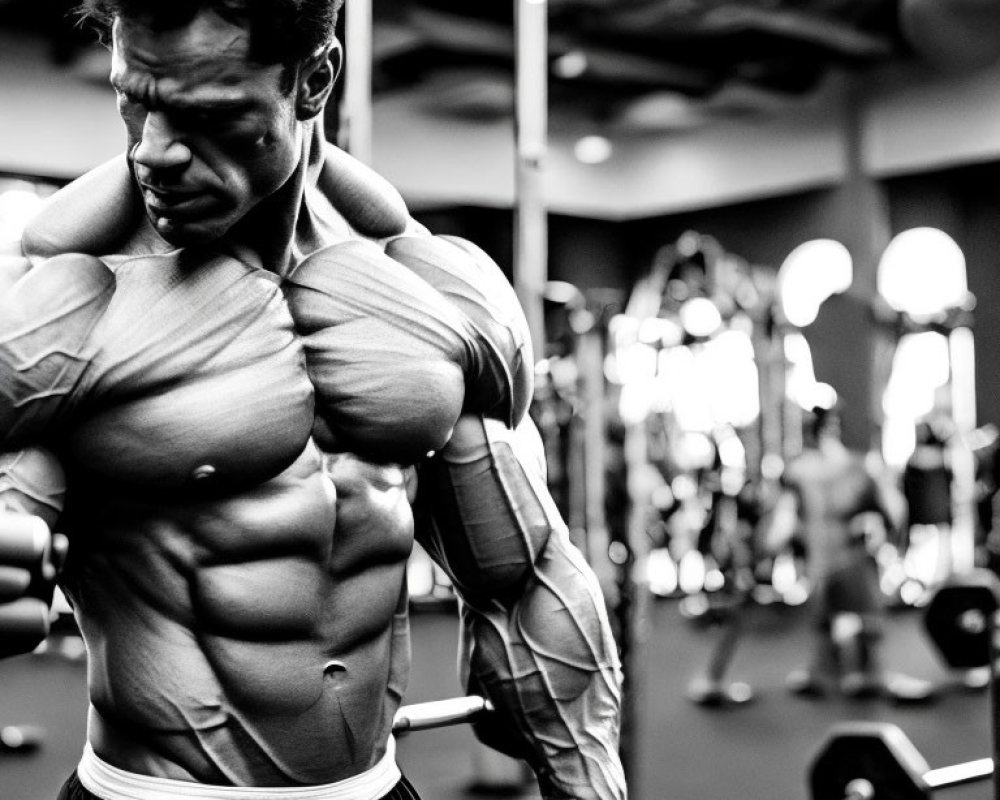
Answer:
<path fill-rule="evenodd" d="M 895 0 L 467 5 L 347 0 L 327 132 L 518 292 L 549 488 L 622 658 L 629 796 L 990 796 L 1000 25 L 980 51 Z M 122 147 L 72 6 L 0 2 L 0 239 Z M 900 530 L 850 520 L 902 683 L 790 682 L 816 581 L 808 533 L 767 532 L 833 408 L 906 504 Z M 405 702 L 461 694 L 454 593 L 419 548 L 408 575 Z M 829 626 L 841 678 L 876 657 L 859 620 Z M 3 800 L 74 768 L 86 663 L 58 597 L 0 662 Z M 398 740 L 429 800 L 539 797 L 461 722 Z"/>

